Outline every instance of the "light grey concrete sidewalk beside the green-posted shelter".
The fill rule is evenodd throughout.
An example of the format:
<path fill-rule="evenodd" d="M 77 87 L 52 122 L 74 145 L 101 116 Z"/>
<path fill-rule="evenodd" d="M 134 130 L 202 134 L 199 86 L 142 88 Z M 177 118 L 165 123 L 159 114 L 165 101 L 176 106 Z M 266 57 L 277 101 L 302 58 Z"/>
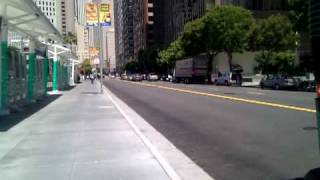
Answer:
<path fill-rule="evenodd" d="M 98 84 L 78 85 L 0 132 L 1 180 L 168 180 Z"/>

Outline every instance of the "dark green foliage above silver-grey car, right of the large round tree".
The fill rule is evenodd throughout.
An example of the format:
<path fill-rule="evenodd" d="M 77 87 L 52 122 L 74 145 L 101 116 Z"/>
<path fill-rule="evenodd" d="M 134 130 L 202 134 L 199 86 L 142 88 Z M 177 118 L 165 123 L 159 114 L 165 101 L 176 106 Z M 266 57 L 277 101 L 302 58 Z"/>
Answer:
<path fill-rule="evenodd" d="M 291 71 L 295 56 L 289 50 L 294 50 L 298 37 L 289 19 L 272 15 L 257 25 L 255 33 L 252 36 L 255 44 L 251 46 L 261 51 L 256 56 L 256 69 L 265 74 Z"/>

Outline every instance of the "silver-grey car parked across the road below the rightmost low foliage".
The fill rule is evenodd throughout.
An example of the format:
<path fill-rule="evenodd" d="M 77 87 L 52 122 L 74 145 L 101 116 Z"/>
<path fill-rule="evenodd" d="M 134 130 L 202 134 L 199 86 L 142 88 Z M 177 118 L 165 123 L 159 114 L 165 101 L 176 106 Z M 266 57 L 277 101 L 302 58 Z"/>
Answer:
<path fill-rule="evenodd" d="M 296 89 L 298 88 L 298 81 L 293 77 L 283 75 L 267 75 L 261 80 L 261 88 L 272 89 Z"/>

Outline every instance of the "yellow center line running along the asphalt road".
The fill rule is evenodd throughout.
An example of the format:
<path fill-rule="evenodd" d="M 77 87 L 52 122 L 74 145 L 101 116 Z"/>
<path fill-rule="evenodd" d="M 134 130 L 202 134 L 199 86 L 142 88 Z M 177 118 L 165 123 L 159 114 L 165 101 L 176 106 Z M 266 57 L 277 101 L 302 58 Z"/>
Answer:
<path fill-rule="evenodd" d="M 130 81 L 126 81 L 126 82 L 130 82 Z M 253 100 L 253 99 L 237 98 L 237 97 L 232 97 L 232 96 L 224 96 L 224 95 L 218 95 L 218 94 L 212 94 L 212 93 L 199 92 L 199 91 L 194 91 L 194 90 L 171 88 L 171 87 L 167 87 L 167 86 L 153 85 L 153 84 L 147 84 L 147 83 L 137 83 L 137 82 L 130 82 L 130 83 L 137 84 L 137 85 L 142 85 L 142 86 L 146 86 L 146 87 L 166 89 L 166 90 L 171 90 L 171 91 L 176 91 L 176 92 L 183 92 L 183 93 L 189 93 L 189 94 L 195 94 L 195 95 L 202 95 L 202 96 L 226 99 L 226 100 L 237 101 L 237 102 L 245 102 L 245 103 L 250 103 L 250 104 L 258 104 L 258 105 L 262 105 L 262 106 L 270 106 L 270 107 L 276 107 L 276 108 L 282 108 L 282 109 L 290 109 L 290 110 L 295 110 L 295 111 L 316 113 L 316 110 L 315 109 L 311 109 L 311 108 L 304 108 L 304 107 L 298 107 L 298 106 L 292 106 L 292 105 L 277 104 L 277 103 L 258 101 L 258 100 Z"/>

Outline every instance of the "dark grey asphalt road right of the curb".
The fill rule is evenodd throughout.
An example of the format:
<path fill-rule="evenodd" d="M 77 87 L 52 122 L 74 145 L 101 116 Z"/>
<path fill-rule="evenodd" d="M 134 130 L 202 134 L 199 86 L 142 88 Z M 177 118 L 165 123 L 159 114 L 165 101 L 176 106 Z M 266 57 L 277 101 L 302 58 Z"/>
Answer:
<path fill-rule="evenodd" d="M 313 93 L 148 84 L 313 108 Z M 105 85 L 216 180 L 293 179 L 320 165 L 315 113 L 120 80 Z"/>

